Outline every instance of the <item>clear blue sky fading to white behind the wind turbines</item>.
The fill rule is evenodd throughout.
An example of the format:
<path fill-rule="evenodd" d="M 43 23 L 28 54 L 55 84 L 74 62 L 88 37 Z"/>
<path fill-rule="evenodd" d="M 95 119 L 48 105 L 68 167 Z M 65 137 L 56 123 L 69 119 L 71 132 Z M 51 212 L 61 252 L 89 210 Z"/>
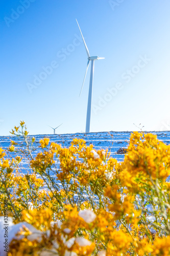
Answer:
<path fill-rule="evenodd" d="M 91 132 L 170 129 L 168 0 L 1 0 L 0 136 L 25 120 L 30 134 L 85 131 L 95 61 Z"/>

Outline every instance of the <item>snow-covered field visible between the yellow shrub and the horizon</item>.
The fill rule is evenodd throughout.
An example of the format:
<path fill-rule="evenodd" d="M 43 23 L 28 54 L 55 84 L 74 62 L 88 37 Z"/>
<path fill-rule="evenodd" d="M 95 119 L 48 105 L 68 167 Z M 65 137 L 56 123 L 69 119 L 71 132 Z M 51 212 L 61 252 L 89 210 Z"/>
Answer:
<path fill-rule="evenodd" d="M 34 135 L 30 137 L 35 137 L 35 143 L 38 145 L 40 139 L 47 137 L 50 139 L 50 142 L 56 142 L 61 144 L 63 147 L 68 147 L 74 138 L 84 139 L 87 143 L 93 144 L 95 150 L 108 148 L 109 152 L 111 152 L 111 157 L 116 158 L 118 161 L 124 160 L 124 155 L 116 154 L 117 150 L 120 147 L 128 147 L 130 135 L 132 132 L 100 132 L 100 133 L 76 133 L 76 134 L 53 134 L 53 135 Z M 148 133 L 148 132 L 147 132 Z M 158 139 L 163 141 L 165 144 L 170 143 L 170 131 L 164 132 L 151 132 L 152 134 L 156 134 Z M 23 138 L 16 136 L 0 136 L 0 147 L 7 149 L 10 145 L 10 140 L 14 140 L 17 143 L 22 143 Z M 33 152 L 33 157 L 40 152 L 40 148 L 37 148 Z M 22 166 L 27 169 L 27 160 L 22 160 Z"/>

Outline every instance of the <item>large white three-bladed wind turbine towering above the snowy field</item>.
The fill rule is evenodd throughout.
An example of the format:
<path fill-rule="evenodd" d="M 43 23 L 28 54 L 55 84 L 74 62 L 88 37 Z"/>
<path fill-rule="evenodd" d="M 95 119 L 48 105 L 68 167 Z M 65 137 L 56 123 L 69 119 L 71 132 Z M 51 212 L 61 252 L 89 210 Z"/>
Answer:
<path fill-rule="evenodd" d="M 77 21 L 77 19 L 76 19 L 76 21 Z M 78 21 L 77 21 L 77 24 L 79 26 Z M 79 29 L 80 29 L 80 26 L 79 26 Z M 86 75 L 87 75 L 89 63 L 91 61 L 90 84 L 89 84 L 89 92 L 88 92 L 87 117 L 86 117 L 86 133 L 89 133 L 90 132 L 90 118 L 91 118 L 91 102 L 92 102 L 94 60 L 105 59 L 105 58 L 101 58 L 101 57 L 98 57 L 98 56 L 91 56 L 90 57 L 89 50 L 87 48 L 87 45 L 86 45 L 86 42 L 84 40 L 84 37 L 83 37 L 81 29 L 80 29 L 80 33 L 82 35 L 84 46 L 85 46 L 87 57 L 88 57 L 86 73 L 85 73 L 85 76 L 84 76 L 83 85 L 82 85 L 82 88 L 81 88 L 81 91 L 80 91 L 80 95 L 81 95 L 81 92 L 82 92 L 82 89 L 83 89 L 83 86 L 84 86 L 84 81 L 85 81 L 85 78 L 86 78 Z M 79 95 L 79 97 L 80 97 L 80 95 Z"/>

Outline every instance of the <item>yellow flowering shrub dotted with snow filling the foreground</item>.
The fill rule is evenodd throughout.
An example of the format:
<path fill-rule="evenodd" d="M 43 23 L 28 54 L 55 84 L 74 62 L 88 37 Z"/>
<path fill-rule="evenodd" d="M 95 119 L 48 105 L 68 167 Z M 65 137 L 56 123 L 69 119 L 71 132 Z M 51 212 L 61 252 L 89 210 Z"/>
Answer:
<path fill-rule="evenodd" d="M 119 163 L 82 139 L 37 144 L 24 122 L 11 133 L 23 142 L 0 148 L 1 216 L 8 200 L 17 231 L 9 256 L 170 254 L 170 146 L 156 135 L 132 133 Z"/>

